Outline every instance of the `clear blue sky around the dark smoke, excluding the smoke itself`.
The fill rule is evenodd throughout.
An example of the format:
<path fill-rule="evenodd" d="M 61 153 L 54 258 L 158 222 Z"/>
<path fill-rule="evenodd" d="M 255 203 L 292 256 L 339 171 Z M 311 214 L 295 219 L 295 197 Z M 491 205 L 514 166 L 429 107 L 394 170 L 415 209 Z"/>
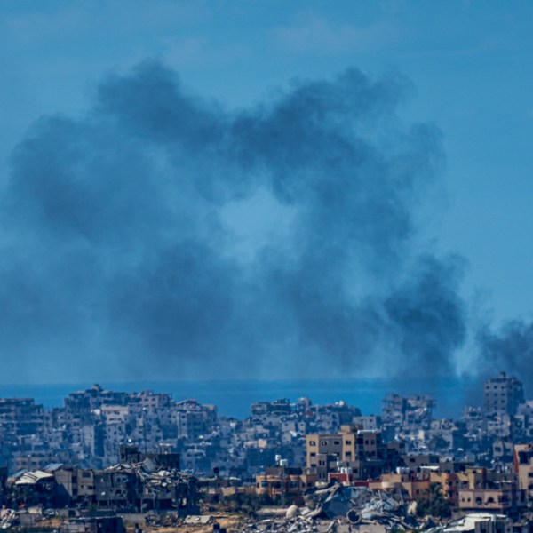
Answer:
<path fill-rule="evenodd" d="M 0 169 L 9 179 L 12 150 L 39 117 L 83 116 L 103 76 L 147 58 L 233 110 L 275 98 L 294 79 L 350 67 L 400 73 L 411 85 L 399 115 L 433 123 L 446 155 L 442 182 L 416 215 L 417 239 L 466 259 L 461 290 L 474 314 L 530 319 L 531 57 L 525 1 L 4 0 Z M 248 209 L 275 211 L 268 202 Z M 235 225 L 247 216 L 237 212 Z"/>

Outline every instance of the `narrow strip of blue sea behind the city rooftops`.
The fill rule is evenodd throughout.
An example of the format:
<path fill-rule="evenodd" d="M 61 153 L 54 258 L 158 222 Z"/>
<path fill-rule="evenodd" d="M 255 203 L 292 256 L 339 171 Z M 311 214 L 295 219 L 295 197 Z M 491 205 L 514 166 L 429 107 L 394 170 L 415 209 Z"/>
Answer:
<path fill-rule="evenodd" d="M 219 415 L 245 418 L 254 402 L 288 398 L 295 402 L 307 397 L 314 404 L 346 402 L 363 415 L 379 415 L 386 394 L 430 394 L 436 401 L 434 415 L 458 418 L 466 405 L 479 405 L 480 381 L 476 378 L 349 378 L 349 379 L 219 379 L 219 380 L 136 380 L 97 381 L 99 386 L 118 392 L 171 394 L 176 401 L 195 399 L 214 404 Z M 95 382 L 0 385 L 2 398 L 34 398 L 51 409 L 61 407 L 68 394 L 86 390 Z M 479 390 L 478 390 L 479 389 Z"/>

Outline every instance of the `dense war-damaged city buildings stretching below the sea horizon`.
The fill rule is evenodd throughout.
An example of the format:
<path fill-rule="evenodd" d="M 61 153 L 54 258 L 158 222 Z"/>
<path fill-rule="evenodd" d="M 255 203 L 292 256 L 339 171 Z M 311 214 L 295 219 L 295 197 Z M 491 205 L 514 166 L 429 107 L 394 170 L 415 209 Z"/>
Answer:
<path fill-rule="evenodd" d="M 475 527 L 492 515 L 492 526 L 517 530 L 533 505 L 533 401 L 521 380 L 505 372 L 489 378 L 482 405 L 465 406 L 456 420 L 435 418 L 434 408 L 427 394 L 387 394 L 380 415 L 342 401 L 282 398 L 253 403 L 237 419 L 195 399 L 99 385 L 51 409 L 31 398 L 0 399 L 4 521 L 18 513 L 28 524 L 44 510 L 70 509 L 67 517 L 101 513 L 76 519 L 76 527 L 116 528 L 135 513 L 193 523 L 205 516 L 201 509 L 246 497 L 255 505 L 241 517 L 248 521 L 259 520 L 251 517 L 260 507 L 285 513 L 292 505 L 278 516 L 283 528 L 296 520 L 300 500 L 322 491 L 330 499 L 307 513 L 328 527 L 340 516 L 347 527 L 424 529 L 428 516 L 484 513 Z M 370 512 L 368 498 L 365 507 L 343 489 L 393 504 Z"/>

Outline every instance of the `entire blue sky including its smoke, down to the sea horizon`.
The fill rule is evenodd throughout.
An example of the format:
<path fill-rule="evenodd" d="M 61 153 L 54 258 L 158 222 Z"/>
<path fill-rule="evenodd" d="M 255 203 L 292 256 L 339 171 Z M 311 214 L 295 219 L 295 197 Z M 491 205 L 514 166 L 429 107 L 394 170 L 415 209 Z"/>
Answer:
<path fill-rule="evenodd" d="M 532 26 L 525 1 L 4 0 L 2 361 L 47 382 L 521 370 Z"/>

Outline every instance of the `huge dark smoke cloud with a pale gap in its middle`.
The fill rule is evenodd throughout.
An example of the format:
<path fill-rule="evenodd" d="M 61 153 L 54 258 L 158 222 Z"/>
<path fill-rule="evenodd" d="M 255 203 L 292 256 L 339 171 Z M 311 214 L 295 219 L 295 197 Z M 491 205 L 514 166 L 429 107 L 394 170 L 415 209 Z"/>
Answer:
<path fill-rule="evenodd" d="M 2 193 L 4 361 L 51 380 L 452 373 L 463 265 L 417 251 L 443 157 L 396 115 L 409 90 L 350 69 L 228 111 L 147 62 L 83 118 L 41 118 Z"/>

